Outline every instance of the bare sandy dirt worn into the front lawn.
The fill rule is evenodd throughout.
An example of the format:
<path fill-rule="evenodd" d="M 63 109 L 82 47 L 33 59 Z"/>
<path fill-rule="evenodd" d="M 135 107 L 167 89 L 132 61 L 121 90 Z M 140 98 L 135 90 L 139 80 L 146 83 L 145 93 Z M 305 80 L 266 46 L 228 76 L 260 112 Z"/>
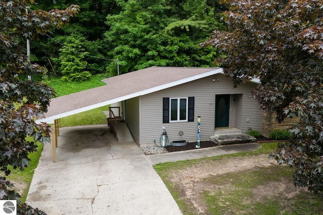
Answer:
<path fill-rule="evenodd" d="M 230 193 L 232 186 L 227 183 L 214 185 L 207 182 L 209 178 L 227 173 L 236 173 L 258 167 L 273 167 L 278 165 L 275 160 L 268 159 L 267 155 L 236 157 L 225 160 L 202 161 L 187 169 L 176 170 L 169 174 L 168 179 L 179 189 L 185 200 L 194 205 L 198 213 L 206 213 L 206 205 L 201 201 L 205 191 L 211 193 L 221 190 L 222 193 Z M 265 173 L 270 174 L 270 173 Z M 228 178 L 230 181 L 230 178 Z M 257 201 L 259 199 L 274 199 L 277 195 L 286 195 L 286 199 L 292 198 L 295 194 L 304 191 L 303 188 L 296 188 L 290 180 L 282 179 L 270 181 L 270 183 L 257 186 L 252 189 L 252 198 L 246 201 Z M 225 204 L 226 202 L 224 202 Z"/>

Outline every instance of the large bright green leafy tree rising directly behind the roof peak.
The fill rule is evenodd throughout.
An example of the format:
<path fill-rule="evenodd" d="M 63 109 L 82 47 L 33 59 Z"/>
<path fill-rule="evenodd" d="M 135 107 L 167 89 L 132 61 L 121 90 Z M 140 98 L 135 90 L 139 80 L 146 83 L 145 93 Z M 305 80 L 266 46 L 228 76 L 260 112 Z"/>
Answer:
<path fill-rule="evenodd" d="M 213 65 L 216 52 L 199 42 L 224 26 L 206 0 L 116 2 L 121 12 L 107 16 L 105 37 L 109 58 L 119 59 L 121 73 L 157 65 Z M 116 75 L 116 61 L 107 70 Z"/>

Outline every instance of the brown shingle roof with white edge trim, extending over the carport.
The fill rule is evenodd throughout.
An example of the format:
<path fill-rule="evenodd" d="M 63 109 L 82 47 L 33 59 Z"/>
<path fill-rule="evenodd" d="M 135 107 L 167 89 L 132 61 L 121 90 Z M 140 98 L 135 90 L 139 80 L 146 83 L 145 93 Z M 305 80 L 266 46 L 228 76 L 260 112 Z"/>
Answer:
<path fill-rule="evenodd" d="M 118 98 L 122 99 L 120 101 L 123 101 L 221 72 L 221 68 L 158 66 L 133 71 L 104 79 L 103 81 L 107 84 L 105 86 L 51 99 L 48 111 L 45 113 L 46 118 L 37 121 L 48 122 L 115 103 Z"/>

